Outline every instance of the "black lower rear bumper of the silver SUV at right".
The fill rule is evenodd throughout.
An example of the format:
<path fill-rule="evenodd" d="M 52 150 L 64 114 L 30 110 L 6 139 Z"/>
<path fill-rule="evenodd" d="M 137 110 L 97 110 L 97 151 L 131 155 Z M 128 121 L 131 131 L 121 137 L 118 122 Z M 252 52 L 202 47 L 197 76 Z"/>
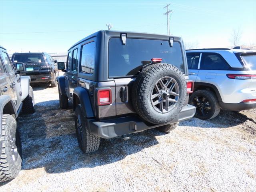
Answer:
<path fill-rule="evenodd" d="M 220 107 L 230 111 L 242 111 L 256 108 L 256 102 L 251 103 L 223 103 L 220 102 Z"/>

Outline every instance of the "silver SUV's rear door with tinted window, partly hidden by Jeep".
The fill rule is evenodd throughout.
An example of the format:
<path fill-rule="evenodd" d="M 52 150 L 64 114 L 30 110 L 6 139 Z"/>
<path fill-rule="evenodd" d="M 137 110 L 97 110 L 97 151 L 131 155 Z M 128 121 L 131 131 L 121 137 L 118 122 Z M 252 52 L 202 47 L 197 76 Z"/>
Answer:
<path fill-rule="evenodd" d="M 190 80 L 196 82 L 199 72 L 199 64 L 202 54 L 201 53 L 186 53 L 188 61 L 188 76 Z"/>

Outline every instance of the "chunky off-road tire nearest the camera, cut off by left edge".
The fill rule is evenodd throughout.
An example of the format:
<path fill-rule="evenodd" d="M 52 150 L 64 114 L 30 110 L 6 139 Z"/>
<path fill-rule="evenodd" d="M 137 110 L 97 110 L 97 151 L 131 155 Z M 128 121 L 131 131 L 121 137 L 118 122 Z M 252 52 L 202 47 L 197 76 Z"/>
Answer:
<path fill-rule="evenodd" d="M 14 138 L 16 140 L 14 141 Z M 2 149 L 0 154 L 0 182 L 15 178 L 21 168 L 21 143 L 16 120 L 12 115 L 2 115 Z M 13 151 L 15 159 L 13 159 Z"/>

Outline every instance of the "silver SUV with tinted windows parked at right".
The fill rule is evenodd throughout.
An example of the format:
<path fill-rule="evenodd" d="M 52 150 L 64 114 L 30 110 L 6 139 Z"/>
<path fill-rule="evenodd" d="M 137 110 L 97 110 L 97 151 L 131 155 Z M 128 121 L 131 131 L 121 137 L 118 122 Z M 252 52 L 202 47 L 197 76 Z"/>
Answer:
<path fill-rule="evenodd" d="M 256 108 L 256 51 L 233 49 L 186 50 L 194 93 L 189 104 L 195 117 L 211 119 L 220 108 L 232 111 Z"/>

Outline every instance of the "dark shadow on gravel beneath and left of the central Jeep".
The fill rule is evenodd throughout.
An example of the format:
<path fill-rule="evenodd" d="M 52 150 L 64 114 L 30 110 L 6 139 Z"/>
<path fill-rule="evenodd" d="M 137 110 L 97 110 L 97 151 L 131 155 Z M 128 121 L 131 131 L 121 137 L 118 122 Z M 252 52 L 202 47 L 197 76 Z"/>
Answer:
<path fill-rule="evenodd" d="M 76 140 L 73 118 L 72 109 L 60 109 L 58 100 L 37 103 L 34 114 L 20 116 L 22 170 L 44 167 L 47 173 L 61 173 L 111 164 L 158 144 L 155 136 L 163 135 L 153 129 L 132 134 L 130 140 L 102 139 L 98 151 L 83 154 Z"/>

